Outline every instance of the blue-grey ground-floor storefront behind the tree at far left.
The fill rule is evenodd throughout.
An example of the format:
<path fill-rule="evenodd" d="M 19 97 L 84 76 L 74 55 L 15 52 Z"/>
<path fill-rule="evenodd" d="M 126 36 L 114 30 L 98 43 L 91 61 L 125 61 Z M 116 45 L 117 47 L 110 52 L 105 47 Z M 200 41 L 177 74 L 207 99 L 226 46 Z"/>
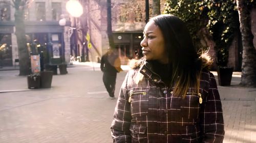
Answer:
<path fill-rule="evenodd" d="M 25 24 L 27 48 L 31 54 L 45 52 L 44 58 L 47 58 L 45 64 L 65 63 L 64 29 L 57 21 L 27 21 Z M 0 22 L 0 66 L 13 66 L 15 59 L 18 59 L 17 42 L 13 29 L 12 21 Z M 29 46 L 33 42 L 37 44 L 36 47 Z"/>

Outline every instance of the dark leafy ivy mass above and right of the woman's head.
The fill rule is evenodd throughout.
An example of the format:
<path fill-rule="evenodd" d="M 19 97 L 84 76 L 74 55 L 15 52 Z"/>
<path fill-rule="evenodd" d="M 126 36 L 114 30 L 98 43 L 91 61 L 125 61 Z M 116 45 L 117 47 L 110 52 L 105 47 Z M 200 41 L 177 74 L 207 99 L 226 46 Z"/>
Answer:
<path fill-rule="evenodd" d="M 256 5 L 255 0 L 246 1 L 250 8 Z M 217 64 L 226 66 L 228 48 L 239 31 L 239 16 L 234 0 L 167 0 L 165 12 L 180 17 L 187 25 L 194 44 L 202 48 L 199 31 L 207 27 L 216 43 Z"/>

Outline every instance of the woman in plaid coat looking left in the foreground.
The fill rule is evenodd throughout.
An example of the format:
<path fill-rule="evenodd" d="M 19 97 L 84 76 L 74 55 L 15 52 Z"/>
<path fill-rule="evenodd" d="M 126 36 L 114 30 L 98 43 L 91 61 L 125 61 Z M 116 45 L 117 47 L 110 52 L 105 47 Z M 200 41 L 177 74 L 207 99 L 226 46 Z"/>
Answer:
<path fill-rule="evenodd" d="M 113 142 L 223 142 L 222 105 L 207 52 L 197 53 L 174 15 L 153 17 L 143 34 L 144 57 L 119 92 Z"/>

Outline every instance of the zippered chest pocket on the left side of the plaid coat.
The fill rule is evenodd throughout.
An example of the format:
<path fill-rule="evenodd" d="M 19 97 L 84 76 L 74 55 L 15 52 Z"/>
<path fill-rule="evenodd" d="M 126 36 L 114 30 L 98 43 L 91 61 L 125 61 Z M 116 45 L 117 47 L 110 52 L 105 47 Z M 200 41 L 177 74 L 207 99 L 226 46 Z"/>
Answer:
<path fill-rule="evenodd" d="M 131 103 L 133 118 L 144 116 L 148 113 L 148 92 L 146 90 L 131 90 L 128 101 Z"/>

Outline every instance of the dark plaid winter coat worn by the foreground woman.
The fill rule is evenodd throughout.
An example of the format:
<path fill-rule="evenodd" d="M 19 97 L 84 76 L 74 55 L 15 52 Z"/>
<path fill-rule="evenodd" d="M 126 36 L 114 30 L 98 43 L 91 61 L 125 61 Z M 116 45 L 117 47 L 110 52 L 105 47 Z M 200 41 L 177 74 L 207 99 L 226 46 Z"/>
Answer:
<path fill-rule="evenodd" d="M 144 77 L 136 84 L 140 73 Z M 114 112 L 113 142 L 222 142 L 222 105 L 214 75 L 203 70 L 200 93 L 189 88 L 185 99 L 173 90 L 148 63 L 130 70 Z"/>

